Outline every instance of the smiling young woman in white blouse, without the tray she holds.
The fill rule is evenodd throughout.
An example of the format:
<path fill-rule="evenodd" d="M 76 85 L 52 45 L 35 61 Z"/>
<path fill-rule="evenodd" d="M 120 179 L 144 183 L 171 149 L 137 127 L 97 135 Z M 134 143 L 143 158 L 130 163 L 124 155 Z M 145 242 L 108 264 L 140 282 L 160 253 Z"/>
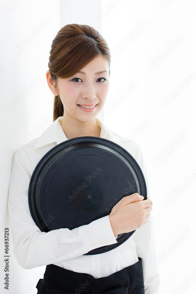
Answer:
<path fill-rule="evenodd" d="M 127 143 L 96 117 L 109 90 L 110 51 L 105 39 L 91 26 L 68 24 L 52 42 L 48 67 L 46 78 L 55 95 L 53 123 L 18 148 L 13 159 L 8 205 L 14 255 L 26 269 L 46 265 L 36 286 L 38 294 L 157 294 L 160 281 L 150 198 L 142 201 L 138 193 L 125 196 L 108 216 L 73 230 L 41 232 L 31 217 L 27 195 L 33 170 L 51 148 L 71 138 L 95 136 L 123 146 L 140 165 L 148 188 L 140 146 L 132 140 Z M 84 255 L 117 243 L 118 234 L 133 230 L 114 249 Z"/>

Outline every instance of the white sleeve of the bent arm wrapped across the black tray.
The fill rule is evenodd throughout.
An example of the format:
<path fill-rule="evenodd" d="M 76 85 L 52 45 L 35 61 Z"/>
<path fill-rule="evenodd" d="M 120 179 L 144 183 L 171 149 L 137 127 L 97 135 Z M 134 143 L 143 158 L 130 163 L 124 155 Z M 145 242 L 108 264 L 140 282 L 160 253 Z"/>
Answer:
<path fill-rule="evenodd" d="M 9 217 L 14 255 L 22 268 L 30 269 L 76 258 L 101 246 L 117 243 L 109 216 L 69 230 L 41 232 L 31 217 L 28 188 L 33 168 L 24 149 L 16 150 L 9 185 Z"/>

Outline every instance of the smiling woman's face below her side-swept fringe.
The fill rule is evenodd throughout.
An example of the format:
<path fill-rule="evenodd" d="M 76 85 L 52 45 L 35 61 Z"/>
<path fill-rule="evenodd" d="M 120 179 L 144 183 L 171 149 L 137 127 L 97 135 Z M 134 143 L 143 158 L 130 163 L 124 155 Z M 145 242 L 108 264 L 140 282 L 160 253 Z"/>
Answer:
<path fill-rule="evenodd" d="M 97 56 L 70 78 L 58 78 L 58 95 L 67 119 L 93 121 L 103 108 L 109 90 L 109 63 Z M 84 108 L 82 106 L 93 106 Z M 71 117 L 70 117 L 71 116 Z"/>

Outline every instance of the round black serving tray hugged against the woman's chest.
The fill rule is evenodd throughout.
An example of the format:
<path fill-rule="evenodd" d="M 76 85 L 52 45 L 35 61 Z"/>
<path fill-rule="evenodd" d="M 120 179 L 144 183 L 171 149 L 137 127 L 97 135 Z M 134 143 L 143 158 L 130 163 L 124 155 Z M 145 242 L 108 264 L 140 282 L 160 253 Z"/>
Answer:
<path fill-rule="evenodd" d="M 41 231 L 72 230 L 109 215 L 120 199 L 136 192 L 147 199 L 144 175 L 128 151 L 104 138 L 77 137 L 56 145 L 38 162 L 29 183 L 29 208 Z M 112 250 L 134 232 L 84 255 Z"/>

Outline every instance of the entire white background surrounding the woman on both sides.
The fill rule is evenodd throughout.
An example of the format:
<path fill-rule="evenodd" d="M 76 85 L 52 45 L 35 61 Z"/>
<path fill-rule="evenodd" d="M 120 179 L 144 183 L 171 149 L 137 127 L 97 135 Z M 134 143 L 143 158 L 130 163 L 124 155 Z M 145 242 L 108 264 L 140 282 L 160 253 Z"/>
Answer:
<path fill-rule="evenodd" d="M 12 160 L 19 145 L 40 136 L 53 121 L 48 56 L 57 32 L 69 23 L 93 26 L 110 48 L 110 90 L 98 117 L 142 147 L 153 200 L 159 294 L 195 292 L 195 11 L 194 0 L 1 1 L 1 293 L 37 293 L 45 270 L 21 268 L 10 236 L 10 285 L 9 292 L 4 290 Z M 33 39 L 17 52 L 29 35 Z M 31 89 L 33 80 L 37 85 Z"/>

